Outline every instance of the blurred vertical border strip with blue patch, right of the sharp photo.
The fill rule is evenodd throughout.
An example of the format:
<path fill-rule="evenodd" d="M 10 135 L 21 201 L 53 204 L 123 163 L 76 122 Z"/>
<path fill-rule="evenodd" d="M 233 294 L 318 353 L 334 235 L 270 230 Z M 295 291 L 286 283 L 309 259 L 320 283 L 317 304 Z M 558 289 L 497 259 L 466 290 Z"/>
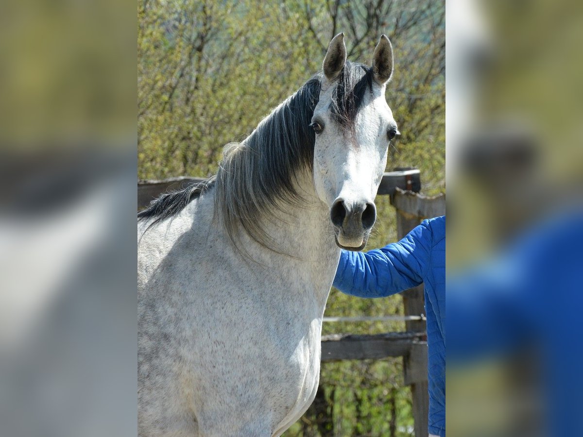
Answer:
<path fill-rule="evenodd" d="M 448 436 L 583 435 L 582 12 L 447 2 Z"/>

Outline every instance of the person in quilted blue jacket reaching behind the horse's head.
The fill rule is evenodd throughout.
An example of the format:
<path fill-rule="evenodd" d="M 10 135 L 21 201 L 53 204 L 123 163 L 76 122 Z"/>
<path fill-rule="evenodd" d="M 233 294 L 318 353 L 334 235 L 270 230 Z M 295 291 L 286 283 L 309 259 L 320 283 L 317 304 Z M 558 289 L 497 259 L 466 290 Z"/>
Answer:
<path fill-rule="evenodd" d="M 399 242 L 366 253 L 343 250 L 334 286 L 353 296 L 385 297 L 424 283 L 429 435 L 445 436 L 445 216 L 424 220 Z"/>

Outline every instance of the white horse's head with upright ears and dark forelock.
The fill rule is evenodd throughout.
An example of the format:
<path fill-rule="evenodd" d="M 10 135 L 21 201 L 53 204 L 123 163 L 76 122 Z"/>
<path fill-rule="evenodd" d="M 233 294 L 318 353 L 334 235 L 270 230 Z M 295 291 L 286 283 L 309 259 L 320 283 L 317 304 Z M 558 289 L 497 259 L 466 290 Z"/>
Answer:
<path fill-rule="evenodd" d="M 383 35 L 371 68 L 346 60 L 344 34 L 324 58 L 321 91 L 311 126 L 315 132 L 314 186 L 330 209 L 336 244 L 360 251 L 376 220 L 374 198 L 398 134 L 385 100 L 393 51 Z"/>

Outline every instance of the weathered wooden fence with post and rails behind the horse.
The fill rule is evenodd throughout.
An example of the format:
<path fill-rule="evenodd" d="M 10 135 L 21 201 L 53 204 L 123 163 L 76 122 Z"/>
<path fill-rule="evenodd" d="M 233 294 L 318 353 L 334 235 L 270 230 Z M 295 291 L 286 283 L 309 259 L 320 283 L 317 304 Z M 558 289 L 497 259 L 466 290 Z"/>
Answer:
<path fill-rule="evenodd" d="M 202 178 L 171 178 L 138 182 L 138 209 L 149 205 L 161 193 L 201 182 Z M 385 172 L 377 195 L 391 196 L 395 207 L 397 237 L 405 237 L 422 220 L 445 214 L 445 195 L 420 195 L 419 170 L 396 168 Z M 411 387 L 415 435 L 427 436 L 429 394 L 427 393 L 427 335 L 424 318 L 423 284 L 403 293 L 405 332 L 375 335 L 333 334 L 322 337 L 322 361 L 369 360 L 403 357 L 405 385 Z M 361 318 L 360 320 L 366 320 Z M 331 320 L 325 320 L 331 321 Z"/>

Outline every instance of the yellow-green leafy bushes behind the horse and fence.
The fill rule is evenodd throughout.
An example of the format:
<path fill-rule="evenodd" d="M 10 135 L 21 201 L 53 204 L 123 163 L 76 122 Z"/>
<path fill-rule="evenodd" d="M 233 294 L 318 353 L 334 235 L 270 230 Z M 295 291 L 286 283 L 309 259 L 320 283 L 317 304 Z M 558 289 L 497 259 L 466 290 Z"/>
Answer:
<path fill-rule="evenodd" d="M 443 191 L 444 15 L 445 2 L 432 0 L 139 1 L 139 177 L 214 174 L 223 146 L 245 138 L 321 69 L 329 40 L 343 31 L 349 59 L 366 64 L 380 35 L 391 39 L 395 73 L 387 102 L 402 136 L 392 142 L 387 168 L 417 167 L 425 192 Z M 396 239 L 387 196 L 377 198 L 377 209 L 368 247 Z M 326 315 L 400 313 L 399 296 L 359 299 L 336 290 L 326 307 Z M 404 324 L 326 323 L 323 329 L 381 333 Z M 395 359 L 324 363 L 322 393 L 285 435 L 410 435 L 401 367 Z"/>

